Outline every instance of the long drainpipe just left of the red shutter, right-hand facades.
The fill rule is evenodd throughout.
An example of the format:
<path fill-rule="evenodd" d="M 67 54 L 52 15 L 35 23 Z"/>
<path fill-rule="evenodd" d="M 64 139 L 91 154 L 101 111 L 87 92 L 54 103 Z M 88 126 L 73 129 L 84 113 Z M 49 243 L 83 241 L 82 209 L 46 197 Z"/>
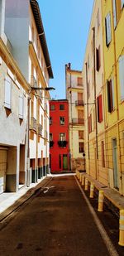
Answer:
<path fill-rule="evenodd" d="M 93 79 L 94 79 L 94 105 L 95 105 L 95 123 L 96 123 L 96 150 L 97 150 L 97 165 L 96 179 L 98 179 L 98 118 L 97 118 L 97 100 L 96 100 L 96 58 L 95 58 L 95 27 L 93 27 Z"/>

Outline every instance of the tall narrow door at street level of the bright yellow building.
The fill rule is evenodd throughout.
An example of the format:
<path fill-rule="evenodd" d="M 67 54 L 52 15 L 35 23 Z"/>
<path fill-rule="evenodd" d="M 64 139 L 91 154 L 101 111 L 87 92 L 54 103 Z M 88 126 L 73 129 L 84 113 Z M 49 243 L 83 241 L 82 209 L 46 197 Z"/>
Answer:
<path fill-rule="evenodd" d="M 112 139 L 112 162 L 113 162 L 113 177 L 114 177 L 114 187 L 119 188 L 118 182 L 118 170 L 117 170 L 117 139 Z"/>

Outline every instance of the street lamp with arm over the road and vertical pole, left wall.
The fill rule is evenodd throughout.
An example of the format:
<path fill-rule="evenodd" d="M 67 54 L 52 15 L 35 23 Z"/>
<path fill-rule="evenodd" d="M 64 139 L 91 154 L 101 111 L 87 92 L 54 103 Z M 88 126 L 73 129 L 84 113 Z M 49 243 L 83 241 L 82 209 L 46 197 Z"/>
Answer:
<path fill-rule="evenodd" d="M 54 87 L 31 87 L 31 89 L 29 89 L 29 94 L 31 93 L 32 90 L 45 90 L 45 91 L 49 91 L 49 90 L 55 90 Z M 28 114 L 27 114 L 27 120 L 28 120 L 28 123 L 27 123 L 27 142 L 28 142 L 28 145 L 27 145 L 27 178 L 26 178 L 26 185 L 27 186 L 30 186 L 30 181 L 29 181 L 29 167 L 30 167 L 30 145 L 29 145 L 29 123 L 30 123 L 30 97 L 28 97 L 27 99 L 27 111 L 28 111 Z"/>

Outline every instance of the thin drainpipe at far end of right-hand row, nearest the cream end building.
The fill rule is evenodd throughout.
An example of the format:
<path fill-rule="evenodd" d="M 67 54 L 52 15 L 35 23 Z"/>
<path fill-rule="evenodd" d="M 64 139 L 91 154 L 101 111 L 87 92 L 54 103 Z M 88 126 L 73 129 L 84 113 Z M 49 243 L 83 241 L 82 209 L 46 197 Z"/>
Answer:
<path fill-rule="evenodd" d="M 86 67 L 86 85 L 87 85 L 87 120 L 88 120 L 88 65 L 87 62 L 85 63 Z M 90 175 L 90 162 L 89 162 L 89 133 L 88 133 L 88 169 L 89 169 L 89 175 Z"/>

